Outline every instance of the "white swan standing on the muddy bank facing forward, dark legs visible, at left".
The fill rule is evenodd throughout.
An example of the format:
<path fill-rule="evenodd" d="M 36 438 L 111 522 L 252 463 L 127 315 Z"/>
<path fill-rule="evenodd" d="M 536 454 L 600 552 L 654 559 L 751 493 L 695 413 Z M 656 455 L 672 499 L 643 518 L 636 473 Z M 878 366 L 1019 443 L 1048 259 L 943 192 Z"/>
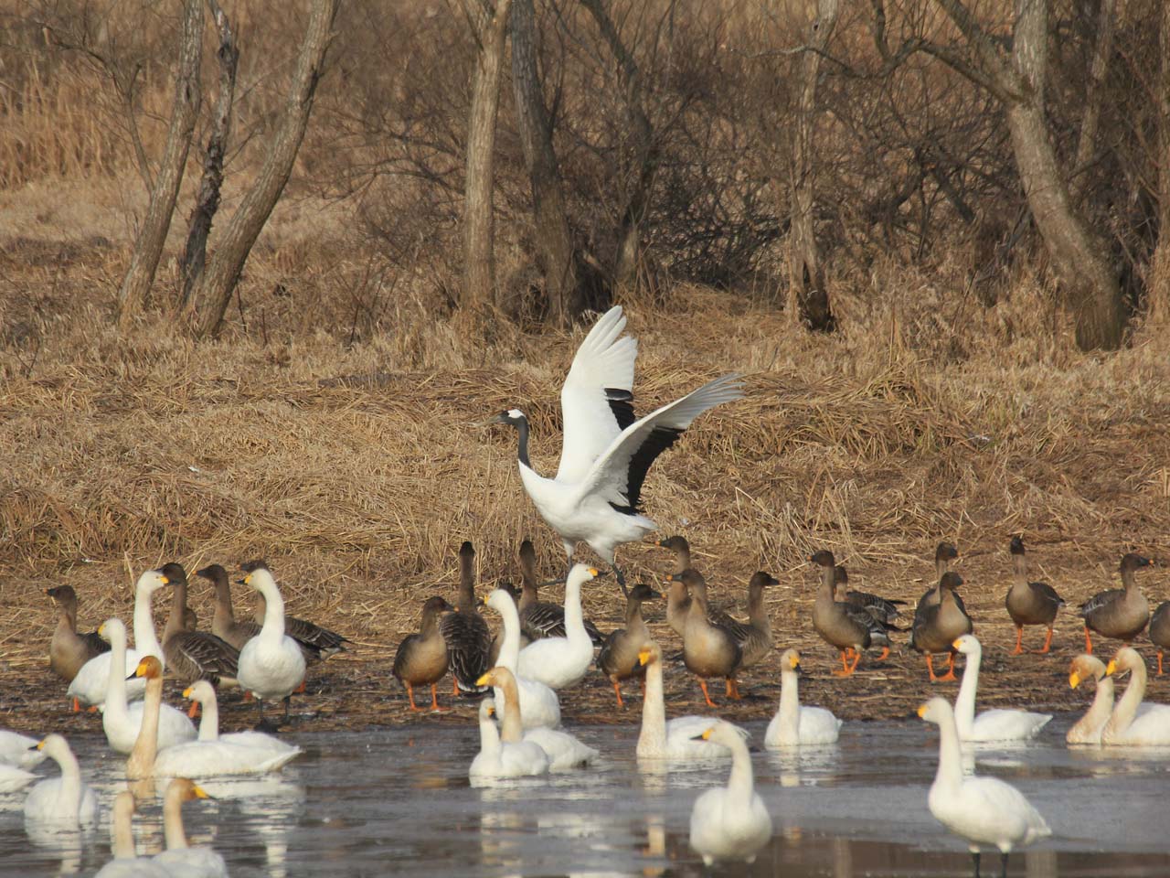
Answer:
<path fill-rule="evenodd" d="M 240 650 L 240 686 L 256 697 L 260 718 L 264 718 L 264 699 L 288 699 L 304 680 L 304 653 L 297 642 L 284 633 L 284 599 L 263 561 L 243 565 L 243 582 L 264 596 L 264 624 L 260 633 Z M 289 702 L 284 701 L 288 715 Z"/>

